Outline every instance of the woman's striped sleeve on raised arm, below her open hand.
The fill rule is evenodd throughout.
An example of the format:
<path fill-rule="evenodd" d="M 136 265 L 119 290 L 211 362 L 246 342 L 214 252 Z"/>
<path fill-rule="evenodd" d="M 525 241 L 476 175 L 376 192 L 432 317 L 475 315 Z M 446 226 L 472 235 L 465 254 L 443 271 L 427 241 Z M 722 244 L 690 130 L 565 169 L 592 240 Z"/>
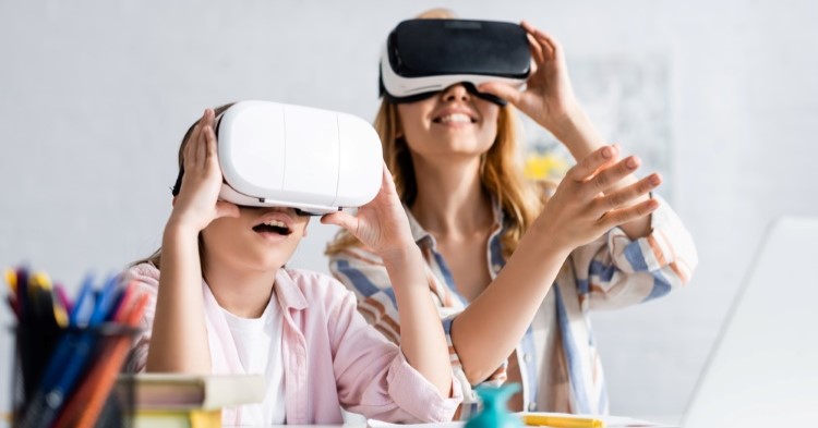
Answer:
<path fill-rule="evenodd" d="M 693 237 L 667 203 L 653 197 L 660 207 L 651 215 L 650 234 L 631 240 L 614 228 L 572 253 L 569 262 L 584 310 L 647 302 L 690 280 L 698 264 Z"/>

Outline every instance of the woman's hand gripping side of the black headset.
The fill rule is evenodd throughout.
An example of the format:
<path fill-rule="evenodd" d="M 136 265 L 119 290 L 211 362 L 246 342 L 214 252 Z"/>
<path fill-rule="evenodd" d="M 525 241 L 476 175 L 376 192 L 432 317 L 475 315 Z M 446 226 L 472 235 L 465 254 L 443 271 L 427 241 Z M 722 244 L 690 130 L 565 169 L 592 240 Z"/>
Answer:
<path fill-rule="evenodd" d="M 579 110 L 568 78 L 563 47 L 531 24 L 524 21 L 520 25 L 528 32 L 533 60 L 526 90 L 501 83 L 484 83 L 478 90 L 503 98 L 552 134 L 558 135 L 565 121 Z"/>

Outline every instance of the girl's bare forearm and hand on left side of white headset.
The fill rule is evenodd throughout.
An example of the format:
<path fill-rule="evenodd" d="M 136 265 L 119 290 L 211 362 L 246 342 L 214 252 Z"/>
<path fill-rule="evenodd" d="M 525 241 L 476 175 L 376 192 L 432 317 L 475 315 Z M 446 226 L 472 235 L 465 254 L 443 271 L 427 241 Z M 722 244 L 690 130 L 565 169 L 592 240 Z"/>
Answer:
<path fill-rule="evenodd" d="M 182 186 L 163 236 L 147 371 L 210 372 L 199 233 L 214 219 L 239 215 L 234 205 L 217 201 L 221 170 L 213 125 L 214 112 L 207 109 L 184 148 Z"/>

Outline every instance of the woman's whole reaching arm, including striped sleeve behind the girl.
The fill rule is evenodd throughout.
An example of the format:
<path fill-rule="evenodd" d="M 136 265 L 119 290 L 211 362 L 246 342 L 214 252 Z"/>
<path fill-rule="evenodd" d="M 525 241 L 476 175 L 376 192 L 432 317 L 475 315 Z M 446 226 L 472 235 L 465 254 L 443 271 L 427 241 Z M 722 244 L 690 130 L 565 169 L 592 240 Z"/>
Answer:
<path fill-rule="evenodd" d="M 557 187 L 553 204 L 526 232 L 501 274 L 454 321 L 444 321 L 455 350 L 452 365 L 456 372 L 462 370 L 469 384 L 482 383 L 497 372 L 575 247 L 593 241 L 616 223 L 655 209 L 655 200 L 628 205 L 628 200 L 654 188 L 645 180 L 608 196 L 600 194 L 604 183 L 629 173 L 622 161 L 616 162 L 615 155 L 615 148 L 606 146 L 575 167 Z M 614 207 L 617 204 L 621 206 Z M 359 309 L 368 320 L 390 339 L 402 341 L 405 329 L 401 323 L 398 338 L 396 305 L 389 296 L 394 284 L 389 283 L 392 278 L 384 278 L 382 260 L 362 250 L 349 250 L 335 257 L 330 267 L 359 295 Z M 435 284 L 426 280 L 424 288 L 425 294 L 431 295 L 429 289 Z M 445 292 L 438 297 L 445 301 Z M 448 318 L 447 311 L 457 310 L 444 303 L 437 317 Z M 470 400 L 469 391 L 465 391 L 465 400 Z"/>

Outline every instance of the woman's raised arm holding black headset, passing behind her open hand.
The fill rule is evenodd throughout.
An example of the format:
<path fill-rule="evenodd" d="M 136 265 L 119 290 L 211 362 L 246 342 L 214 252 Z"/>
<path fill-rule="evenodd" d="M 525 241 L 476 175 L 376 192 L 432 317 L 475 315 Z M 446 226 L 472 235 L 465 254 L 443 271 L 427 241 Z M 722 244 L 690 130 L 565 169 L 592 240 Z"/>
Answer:
<path fill-rule="evenodd" d="M 562 45 L 545 32 L 525 21 L 520 25 L 528 32 L 531 56 L 534 61 L 526 90 L 520 91 L 497 83 L 483 84 L 480 90 L 512 102 L 554 134 L 565 144 L 574 159 L 580 161 L 604 146 L 605 142 L 574 95 Z M 635 166 L 640 163 L 635 157 L 630 161 Z M 650 176 L 661 181 L 655 173 Z M 612 185 L 608 192 L 619 189 L 637 181 L 636 176 L 627 175 Z M 649 195 L 643 195 L 637 201 L 647 200 L 649 197 Z M 619 224 L 619 228 L 631 240 L 647 236 L 651 231 L 650 216 L 631 219 Z"/>

